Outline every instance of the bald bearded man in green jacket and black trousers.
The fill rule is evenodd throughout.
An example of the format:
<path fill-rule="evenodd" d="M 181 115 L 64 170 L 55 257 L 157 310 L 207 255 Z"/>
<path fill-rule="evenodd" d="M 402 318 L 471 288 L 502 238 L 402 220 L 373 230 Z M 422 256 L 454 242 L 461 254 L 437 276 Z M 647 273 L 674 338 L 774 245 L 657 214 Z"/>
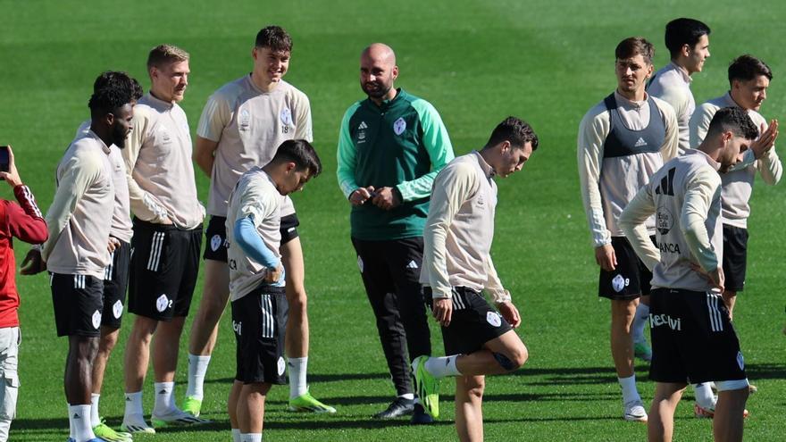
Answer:
<path fill-rule="evenodd" d="M 431 354 L 418 282 L 431 184 L 453 159 L 439 113 L 395 88 L 396 54 L 375 43 L 360 56 L 360 87 L 368 96 L 341 121 L 339 187 L 351 204 L 352 244 L 397 397 L 376 419 L 431 417 L 414 397 L 409 363 Z"/>

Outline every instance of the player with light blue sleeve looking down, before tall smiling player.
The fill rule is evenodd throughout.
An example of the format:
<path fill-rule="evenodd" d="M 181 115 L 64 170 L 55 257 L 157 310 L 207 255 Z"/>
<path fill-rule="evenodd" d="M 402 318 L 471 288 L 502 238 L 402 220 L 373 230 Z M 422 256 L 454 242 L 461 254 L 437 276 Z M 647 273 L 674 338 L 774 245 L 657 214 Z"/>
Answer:
<path fill-rule="evenodd" d="M 238 370 L 231 413 L 234 442 L 262 441 L 264 400 L 272 384 L 285 384 L 284 331 L 288 303 L 280 254 L 281 205 L 319 175 L 322 163 L 304 139 L 283 142 L 270 163 L 244 173 L 229 200 L 230 300 Z M 238 392 L 239 394 L 235 394 Z"/>

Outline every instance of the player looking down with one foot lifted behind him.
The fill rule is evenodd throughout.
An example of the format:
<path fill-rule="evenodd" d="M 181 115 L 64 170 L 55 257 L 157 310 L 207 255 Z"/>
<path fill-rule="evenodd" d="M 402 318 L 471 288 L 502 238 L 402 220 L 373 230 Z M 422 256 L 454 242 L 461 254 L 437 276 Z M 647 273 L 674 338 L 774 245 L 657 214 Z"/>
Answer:
<path fill-rule="evenodd" d="M 497 206 L 493 177 L 521 171 L 537 148 L 530 125 L 508 117 L 480 152 L 457 157 L 434 180 L 421 282 L 442 325 L 445 354 L 451 355 L 419 356 L 412 371 L 417 394 L 434 417 L 439 416 L 439 379 L 456 377 L 456 430 L 462 441 L 483 439 L 484 376 L 514 371 L 527 360 L 527 347 L 513 330 L 521 317 L 489 251 Z M 499 313 L 483 298 L 483 289 Z"/>

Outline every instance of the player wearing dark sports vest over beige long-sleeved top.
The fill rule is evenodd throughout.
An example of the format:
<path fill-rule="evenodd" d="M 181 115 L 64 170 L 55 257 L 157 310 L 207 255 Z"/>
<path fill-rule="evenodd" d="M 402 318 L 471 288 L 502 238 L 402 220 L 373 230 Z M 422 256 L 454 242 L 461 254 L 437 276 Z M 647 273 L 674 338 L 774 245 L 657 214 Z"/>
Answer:
<path fill-rule="evenodd" d="M 649 176 L 676 154 L 679 135 L 672 106 L 644 90 L 654 52 L 640 37 L 617 45 L 617 88 L 584 115 L 577 149 L 581 199 L 600 266 L 598 296 L 611 300 L 611 354 L 626 421 L 647 421 L 633 372 L 631 323 L 639 297 L 649 294 L 651 275 L 617 218 Z M 654 235 L 654 222 L 648 226 Z"/>

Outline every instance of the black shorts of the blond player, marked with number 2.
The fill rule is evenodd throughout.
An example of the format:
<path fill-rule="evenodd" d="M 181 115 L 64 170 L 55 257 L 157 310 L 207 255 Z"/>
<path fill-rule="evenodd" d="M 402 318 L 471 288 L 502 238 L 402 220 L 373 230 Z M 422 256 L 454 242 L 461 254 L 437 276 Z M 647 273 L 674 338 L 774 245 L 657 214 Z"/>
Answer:
<path fill-rule="evenodd" d="M 129 312 L 156 321 L 188 316 L 201 246 L 201 226 L 185 230 L 134 218 Z"/>

